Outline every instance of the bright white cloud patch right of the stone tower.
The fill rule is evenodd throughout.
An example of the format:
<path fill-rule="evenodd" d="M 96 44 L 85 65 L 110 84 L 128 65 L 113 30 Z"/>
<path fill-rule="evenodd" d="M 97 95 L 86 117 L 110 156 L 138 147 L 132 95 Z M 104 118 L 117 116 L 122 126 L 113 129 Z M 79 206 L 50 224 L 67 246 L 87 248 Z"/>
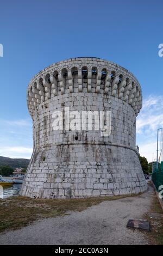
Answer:
<path fill-rule="evenodd" d="M 148 162 L 152 156 L 156 157 L 157 129 L 163 127 L 163 95 L 149 95 L 143 100 L 143 107 L 136 120 L 137 144 L 140 155 L 147 157 Z"/>

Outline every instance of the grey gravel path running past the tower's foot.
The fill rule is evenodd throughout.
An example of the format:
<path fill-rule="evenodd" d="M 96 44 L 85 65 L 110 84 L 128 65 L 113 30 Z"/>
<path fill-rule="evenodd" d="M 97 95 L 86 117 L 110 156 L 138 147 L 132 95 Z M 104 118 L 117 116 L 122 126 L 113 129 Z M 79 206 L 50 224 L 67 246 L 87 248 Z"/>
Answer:
<path fill-rule="evenodd" d="M 146 245 L 146 234 L 126 228 L 148 212 L 153 188 L 137 197 L 105 201 L 82 212 L 47 218 L 1 233 L 0 245 Z"/>

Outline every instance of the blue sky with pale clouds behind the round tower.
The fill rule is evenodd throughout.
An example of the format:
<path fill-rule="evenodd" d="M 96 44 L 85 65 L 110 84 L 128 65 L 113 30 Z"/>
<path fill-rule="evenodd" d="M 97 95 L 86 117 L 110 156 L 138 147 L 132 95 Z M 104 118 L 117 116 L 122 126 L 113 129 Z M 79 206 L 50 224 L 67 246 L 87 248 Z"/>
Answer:
<path fill-rule="evenodd" d="M 1 2 L 0 155 L 32 154 L 29 80 L 54 62 L 92 56 L 124 66 L 139 80 L 144 107 L 137 118 L 137 144 L 151 161 L 156 129 L 163 126 L 162 10 L 161 0 Z"/>

